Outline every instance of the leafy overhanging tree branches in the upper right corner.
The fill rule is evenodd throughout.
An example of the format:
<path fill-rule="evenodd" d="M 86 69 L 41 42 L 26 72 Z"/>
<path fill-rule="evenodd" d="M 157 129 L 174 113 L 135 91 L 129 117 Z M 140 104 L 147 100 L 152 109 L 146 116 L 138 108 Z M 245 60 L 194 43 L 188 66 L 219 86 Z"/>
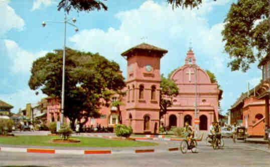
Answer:
<path fill-rule="evenodd" d="M 233 3 L 222 31 L 231 71 L 246 72 L 249 65 L 270 52 L 269 0 L 238 0 Z"/>

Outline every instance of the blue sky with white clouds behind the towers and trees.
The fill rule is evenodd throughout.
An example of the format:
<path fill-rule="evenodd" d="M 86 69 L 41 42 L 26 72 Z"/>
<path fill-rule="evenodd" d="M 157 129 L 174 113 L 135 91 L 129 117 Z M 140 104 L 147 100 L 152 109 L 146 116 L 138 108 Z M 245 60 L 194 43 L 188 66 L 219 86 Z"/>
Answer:
<path fill-rule="evenodd" d="M 67 47 L 99 53 L 116 61 L 123 75 L 126 61 L 120 53 L 146 42 L 168 50 L 161 59 L 161 73 L 167 75 L 184 65 L 190 47 L 197 64 L 216 75 L 223 89 L 221 109 L 224 114 L 240 96 L 259 83 L 261 70 L 257 64 L 246 72 L 231 72 L 230 61 L 224 52 L 221 31 L 223 21 L 236 0 L 205 0 L 199 9 L 174 9 L 165 0 L 108 0 L 108 11 L 90 13 L 72 11 L 76 26 L 67 28 Z M 63 24 L 43 21 L 63 21 L 64 12 L 57 10 L 59 0 L 0 0 L 0 99 L 13 105 L 12 112 L 36 104 L 46 95 L 31 90 L 28 80 L 31 66 L 37 58 L 54 49 L 62 49 Z M 142 39 L 144 38 L 144 39 Z M 191 43 L 191 44 L 190 44 Z"/>

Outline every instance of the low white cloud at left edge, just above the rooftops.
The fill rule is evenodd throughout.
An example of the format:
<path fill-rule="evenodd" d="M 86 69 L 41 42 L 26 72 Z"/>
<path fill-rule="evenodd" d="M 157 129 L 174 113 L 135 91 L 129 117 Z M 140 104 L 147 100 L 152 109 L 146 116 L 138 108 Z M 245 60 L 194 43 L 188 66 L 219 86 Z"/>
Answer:
<path fill-rule="evenodd" d="M 18 90 L 11 94 L 0 94 L 0 99 L 13 105 L 12 112 L 17 113 L 19 108 L 25 108 L 27 103 L 36 104 L 41 98 L 47 97 L 46 95 L 39 93 L 35 94 L 36 91 L 28 89 Z"/>

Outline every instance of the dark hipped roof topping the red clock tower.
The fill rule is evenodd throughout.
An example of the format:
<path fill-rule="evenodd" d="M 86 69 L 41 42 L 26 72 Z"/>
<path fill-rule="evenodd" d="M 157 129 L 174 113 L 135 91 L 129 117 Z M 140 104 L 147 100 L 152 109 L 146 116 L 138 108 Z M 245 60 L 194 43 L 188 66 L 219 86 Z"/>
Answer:
<path fill-rule="evenodd" d="M 121 56 L 129 56 L 132 52 L 136 51 L 136 50 L 148 50 L 148 51 L 155 51 L 155 52 L 159 52 L 161 54 L 167 53 L 168 51 L 147 43 L 142 43 L 140 45 L 134 46 L 128 50 L 126 50 L 125 52 L 121 53 Z"/>

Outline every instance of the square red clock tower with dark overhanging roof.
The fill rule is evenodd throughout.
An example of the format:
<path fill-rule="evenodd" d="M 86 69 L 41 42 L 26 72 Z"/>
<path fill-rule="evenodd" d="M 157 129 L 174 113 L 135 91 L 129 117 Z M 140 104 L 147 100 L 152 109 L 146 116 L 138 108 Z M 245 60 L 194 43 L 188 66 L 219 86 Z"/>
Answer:
<path fill-rule="evenodd" d="M 146 43 L 121 56 L 127 60 L 126 114 L 123 122 L 134 133 L 158 133 L 160 119 L 160 59 L 167 53 Z"/>

